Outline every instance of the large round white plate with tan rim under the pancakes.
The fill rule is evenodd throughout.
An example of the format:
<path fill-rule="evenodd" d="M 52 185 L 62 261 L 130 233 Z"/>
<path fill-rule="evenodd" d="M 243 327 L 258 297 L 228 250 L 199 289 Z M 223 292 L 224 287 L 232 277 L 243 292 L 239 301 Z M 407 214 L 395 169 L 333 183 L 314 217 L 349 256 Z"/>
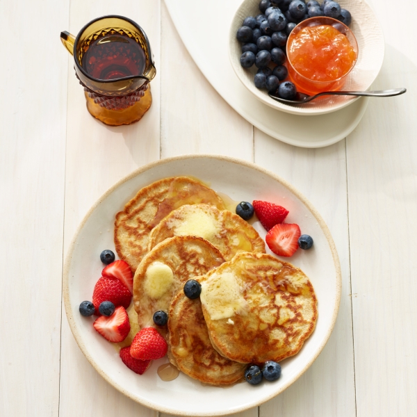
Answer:
<path fill-rule="evenodd" d="M 318 321 L 311 337 L 295 357 L 281 362 L 282 376 L 258 386 L 236 384 L 227 389 L 203 386 L 180 373 L 163 382 L 156 370 L 167 359 L 154 361 L 143 374 L 126 368 L 114 346 L 92 327 L 94 318 L 82 317 L 79 304 L 91 300 L 103 265 L 99 254 L 114 250 L 115 213 L 143 186 L 157 179 L 190 175 L 206 181 L 213 190 L 231 199 L 263 199 L 285 206 L 286 222 L 296 222 L 302 233 L 313 236 L 311 250 L 298 250 L 286 261 L 309 276 L 318 298 Z M 265 230 L 255 222 L 262 237 Z M 63 275 L 65 311 L 76 342 L 97 372 L 129 398 L 159 411 L 181 416 L 220 416 L 255 407 L 281 393 L 305 372 L 324 347 L 332 332 L 341 297 L 341 270 L 332 236 L 317 211 L 290 184 L 252 163 L 220 156 L 180 156 L 149 164 L 122 179 L 90 209 L 74 236 Z M 301 393 L 302 395 L 302 393 Z"/>

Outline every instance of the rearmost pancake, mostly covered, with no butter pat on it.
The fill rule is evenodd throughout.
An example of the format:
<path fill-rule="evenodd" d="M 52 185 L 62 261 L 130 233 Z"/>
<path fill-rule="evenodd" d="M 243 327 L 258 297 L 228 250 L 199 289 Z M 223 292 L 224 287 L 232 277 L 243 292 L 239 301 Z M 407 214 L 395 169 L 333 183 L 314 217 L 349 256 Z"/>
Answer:
<path fill-rule="evenodd" d="M 134 272 L 147 253 L 150 231 L 172 210 L 183 204 L 209 204 L 224 210 L 222 199 L 211 188 L 188 177 L 171 177 L 142 188 L 116 215 L 115 247 Z"/>

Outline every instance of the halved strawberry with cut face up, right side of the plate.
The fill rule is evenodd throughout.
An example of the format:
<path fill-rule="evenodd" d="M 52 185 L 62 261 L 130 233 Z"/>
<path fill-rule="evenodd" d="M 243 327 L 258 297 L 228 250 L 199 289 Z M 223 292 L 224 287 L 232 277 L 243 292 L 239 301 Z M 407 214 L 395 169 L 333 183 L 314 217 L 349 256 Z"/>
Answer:
<path fill-rule="evenodd" d="M 275 254 L 279 256 L 293 256 L 298 249 L 298 238 L 301 236 L 298 224 L 281 223 L 275 224 L 268 234 L 265 241 Z"/>

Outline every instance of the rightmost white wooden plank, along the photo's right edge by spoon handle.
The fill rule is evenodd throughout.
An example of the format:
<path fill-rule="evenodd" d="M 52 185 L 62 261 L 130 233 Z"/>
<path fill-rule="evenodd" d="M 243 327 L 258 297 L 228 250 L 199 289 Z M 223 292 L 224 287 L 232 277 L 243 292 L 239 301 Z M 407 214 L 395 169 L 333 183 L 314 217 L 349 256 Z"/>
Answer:
<path fill-rule="evenodd" d="M 417 415 L 417 6 L 390 5 L 373 1 L 386 39 L 374 87 L 408 92 L 370 101 L 347 139 L 358 417 Z"/>

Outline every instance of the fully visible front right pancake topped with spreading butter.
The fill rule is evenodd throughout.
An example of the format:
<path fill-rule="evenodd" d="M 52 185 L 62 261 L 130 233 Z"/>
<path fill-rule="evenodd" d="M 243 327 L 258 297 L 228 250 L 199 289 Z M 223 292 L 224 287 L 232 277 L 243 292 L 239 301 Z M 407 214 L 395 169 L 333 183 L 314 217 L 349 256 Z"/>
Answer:
<path fill-rule="evenodd" d="M 313 332 L 317 299 L 302 270 L 268 254 L 238 254 L 202 277 L 211 343 L 241 363 L 281 361 Z"/>

